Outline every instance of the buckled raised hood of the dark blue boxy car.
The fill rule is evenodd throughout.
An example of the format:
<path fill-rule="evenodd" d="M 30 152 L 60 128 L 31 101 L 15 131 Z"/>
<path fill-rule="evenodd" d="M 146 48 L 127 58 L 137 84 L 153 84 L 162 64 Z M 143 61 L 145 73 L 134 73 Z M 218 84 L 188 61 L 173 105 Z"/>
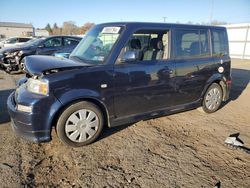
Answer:
<path fill-rule="evenodd" d="M 36 76 L 89 66 L 88 64 L 75 62 L 70 59 L 42 55 L 27 56 L 24 62 L 25 71 L 30 75 Z"/>

